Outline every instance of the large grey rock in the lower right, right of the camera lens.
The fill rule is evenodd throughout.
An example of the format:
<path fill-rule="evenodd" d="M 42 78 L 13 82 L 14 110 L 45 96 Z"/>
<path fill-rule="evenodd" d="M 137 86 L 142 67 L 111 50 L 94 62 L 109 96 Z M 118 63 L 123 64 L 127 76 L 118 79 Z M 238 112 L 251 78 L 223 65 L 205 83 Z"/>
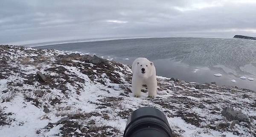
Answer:
<path fill-rule="evenodd" d="M 221 114 L 227 118 L 227 120 L 238 120 L 239 122 L 249 122 L 247 115 L 244 115 L 240 111 L 234 110 L 232 107 L 226 107 Z"/>

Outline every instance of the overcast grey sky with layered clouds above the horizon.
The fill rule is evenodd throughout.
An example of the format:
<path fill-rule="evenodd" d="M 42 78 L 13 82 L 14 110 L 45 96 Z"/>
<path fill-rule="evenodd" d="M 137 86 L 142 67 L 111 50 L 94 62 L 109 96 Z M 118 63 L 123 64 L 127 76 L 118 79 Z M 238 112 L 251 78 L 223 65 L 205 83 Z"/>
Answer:
<path fill-rule="evenodd" d="M 0 44 L 256 36 L 256 0 L 0 0 Z"/>

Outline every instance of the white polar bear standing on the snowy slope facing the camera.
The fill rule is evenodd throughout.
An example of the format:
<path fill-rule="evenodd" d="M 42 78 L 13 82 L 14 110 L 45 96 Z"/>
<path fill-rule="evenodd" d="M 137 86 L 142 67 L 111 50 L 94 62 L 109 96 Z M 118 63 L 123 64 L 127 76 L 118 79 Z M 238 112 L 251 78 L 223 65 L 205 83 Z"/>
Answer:
<path fill-rule="evenodd" d="M 134 60 L 132 66 L 132 92 L 134 96 L 139 98 L 142 85 L 147 85 L 148 98 L 157 96 L 157 78 L 156 68 L 153 62 L 146 58 L 137 58 Z"/>

